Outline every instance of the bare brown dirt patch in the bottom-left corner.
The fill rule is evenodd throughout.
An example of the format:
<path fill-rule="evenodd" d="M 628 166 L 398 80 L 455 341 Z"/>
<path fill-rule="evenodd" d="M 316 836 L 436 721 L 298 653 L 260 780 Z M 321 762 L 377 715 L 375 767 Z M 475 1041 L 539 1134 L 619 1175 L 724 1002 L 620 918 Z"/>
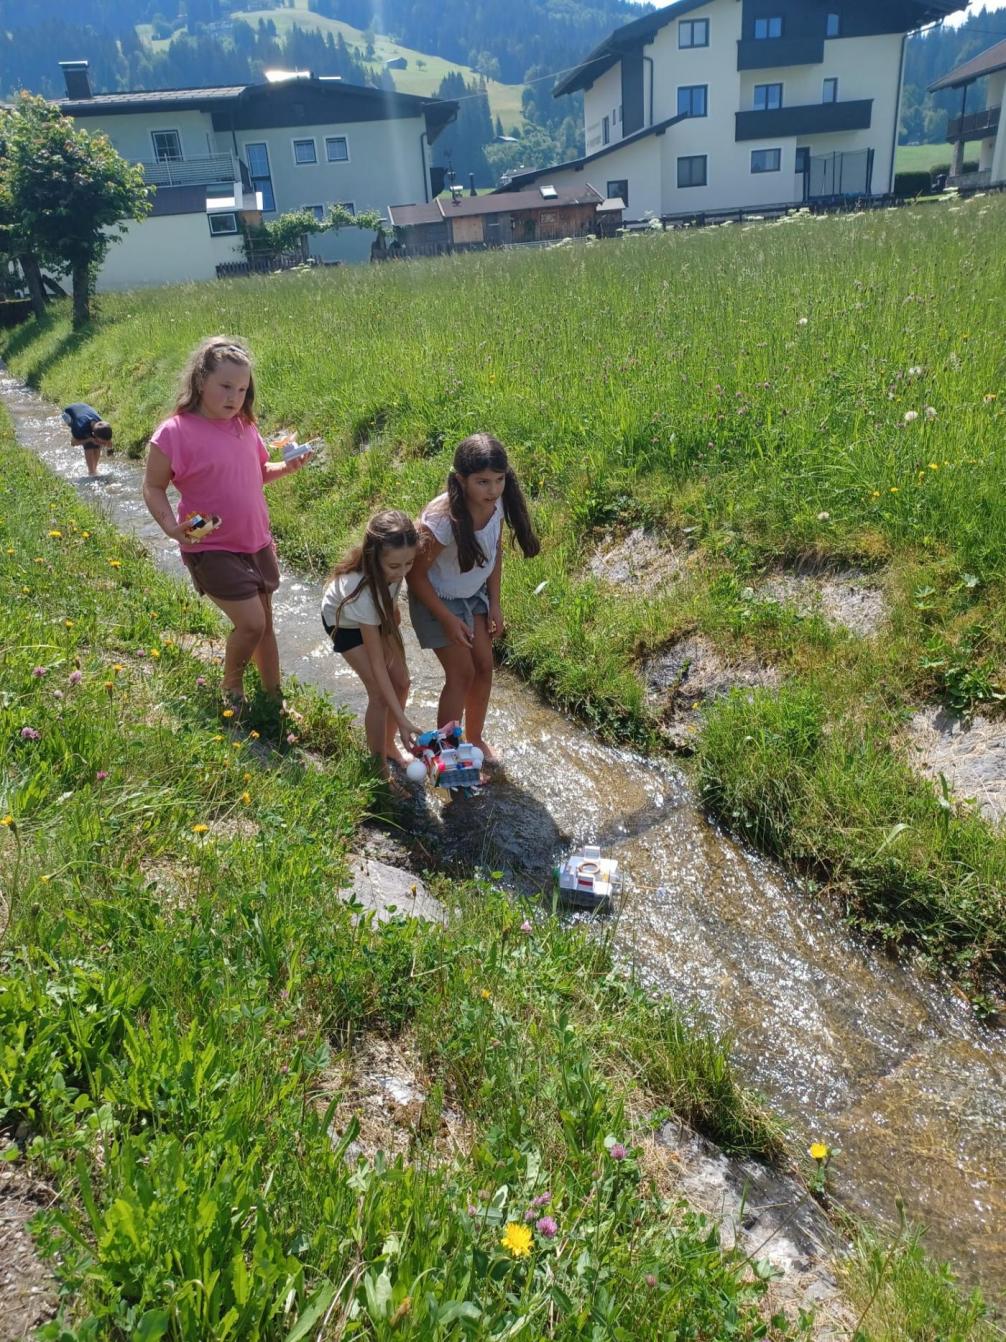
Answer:
<path fill-rule="evenodd" d="M 35 1248 L 28 1221 L 54 1194 L 16 1164 L 0 1162 L 0 1342 L 21 1342 L 56 1312 L 56 1282 Z"/>

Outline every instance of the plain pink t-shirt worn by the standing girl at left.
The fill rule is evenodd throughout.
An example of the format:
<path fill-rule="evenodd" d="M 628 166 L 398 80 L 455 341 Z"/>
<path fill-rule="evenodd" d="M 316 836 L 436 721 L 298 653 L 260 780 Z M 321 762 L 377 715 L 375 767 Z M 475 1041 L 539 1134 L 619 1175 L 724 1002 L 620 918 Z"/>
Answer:
<path fill-rule="evenodd" d="M 272 539 L 262 468 L 266 444 L 254 424 L 235 416 L 209 420 L 203 415 L 172 415 L 158 424 L 150 442 L 170 462 L 172 483 L 181 494 L 178 522 L 189 513 L 216 514 L 220 526 L 182 550 L 232 550 L 255 554 Z"/>

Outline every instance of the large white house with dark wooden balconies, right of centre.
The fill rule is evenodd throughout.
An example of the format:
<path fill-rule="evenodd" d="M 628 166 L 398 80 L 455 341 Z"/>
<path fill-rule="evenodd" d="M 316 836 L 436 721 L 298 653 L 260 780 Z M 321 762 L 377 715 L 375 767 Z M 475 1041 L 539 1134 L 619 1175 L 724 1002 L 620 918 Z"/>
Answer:
<path fill-rule="evenodd" d="M 518 172 L 621 197 L 626 219 L 893 187 L 905 35 L 964 0 L 676 0 L 555 86 L 583 90 L 586 153 Z"/>

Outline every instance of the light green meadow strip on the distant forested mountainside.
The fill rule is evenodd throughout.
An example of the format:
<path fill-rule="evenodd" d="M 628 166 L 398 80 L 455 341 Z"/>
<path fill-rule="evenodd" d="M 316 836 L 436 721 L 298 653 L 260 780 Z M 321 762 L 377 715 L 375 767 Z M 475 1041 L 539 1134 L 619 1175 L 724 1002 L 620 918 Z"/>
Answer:
<path fill-rule="evenodd" d="M 357 60 L 368 64 L 365 60 L 366 36 L 364 30 L 354 28 L 341 19 L 326 19 L 321 13 L 313 13 L 307 8 L 306 0 L 296 0 L 292 8 L 235 11 L 231 17 L 243 19 L 252 27 L 258 27 L 260 19 L 271 19 L 276 25 L 280 39 L 286 38 L 294 25 L 304 30 L 317 30 L 326 35 L 331 34 L 333 38 L 341 36 L 350 51 L 354 47 L 357 48 L 354 52 Z M 141 42 L 145 42 L 156 51 L 165 51 L 170 46 L 170 39 L 164 38 L 158 40 L 150 36 L 150 24 L 137 24 L 137 34 Z M 424 51 L 413 51 L 412 47 L 402 47 L 390 38 L 374 34 L 373 71 L 376 74 L 380 72 L 386 60 L 396 59 L 397 56 L 405 56 L 408 60 L 405 70 L 392 71 L 394 87 L 398 93 L 432 97 L 440 87 L 441 81 L 449 74 L 464 75 L 465 83 L 478 83 L 482 78 L 471 66 L 463 66 L 453 60 L 443 60 L 440 56 L 431 56 Z M 488 79 L 486 87 L 494 118 L 499 117 L 507 132 L 511 132 L 515 126 L 522 127 L 524 123 L 522 103 L 523 85 L 506 85 L 496 79 Z"/>

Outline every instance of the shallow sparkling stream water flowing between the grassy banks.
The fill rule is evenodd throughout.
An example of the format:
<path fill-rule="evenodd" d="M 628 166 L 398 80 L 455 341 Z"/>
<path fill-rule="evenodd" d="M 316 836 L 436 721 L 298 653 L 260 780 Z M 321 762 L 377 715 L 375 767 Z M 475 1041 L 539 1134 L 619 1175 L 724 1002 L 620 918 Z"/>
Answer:
<path fill-rule="evenodd" d="M 137 463 L 115 456 L 89 480 L 52 405 L 7 374 L 0 396 L 25 447 L 185 580 L 144 507 Z M 359 713 L 362 686 L 330 651 L 319 599 L 319 584 L 291 576 L 276 595 L 284 671 Z M 440 667 L 406 647 L 409 713 L 432 723 Z M 932 1253 L 1002 1291 L 1006 1035 L 862 945 L 834 907 L 711 825 L 673 764 L 601 745 L 506 672 L 487 734 L 503 747 L 504 776 L 479 798 L 420 807 L 427 841 L 523 888 L 547 884 L 571 844 L 600 843 L 626 878 L 620 960 L 730 1033 L 740 1075 L 801 1142 L 840 1150 L 836 1190 L 850 1208 L 892 1224 L 901 1196 Z"/>

